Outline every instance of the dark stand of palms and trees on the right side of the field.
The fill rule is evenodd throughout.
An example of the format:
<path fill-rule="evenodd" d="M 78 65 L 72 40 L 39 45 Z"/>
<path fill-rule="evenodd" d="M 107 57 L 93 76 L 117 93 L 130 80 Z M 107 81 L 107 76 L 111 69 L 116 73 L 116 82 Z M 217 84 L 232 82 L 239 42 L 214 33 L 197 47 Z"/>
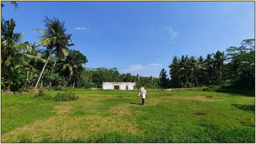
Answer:
<path fill-rule="evenodd" d="M 255 87 L 255 39 L 242 40 L 240 46 L 202 56 L 173 57 L 170 80 L 160 73 L 160 87 L 203 87 L 227 85 L 237 88 Z M 165 72 L 166 73 L 166 72 Z M 169 81 L 169 83 L 166 83 Z"/>

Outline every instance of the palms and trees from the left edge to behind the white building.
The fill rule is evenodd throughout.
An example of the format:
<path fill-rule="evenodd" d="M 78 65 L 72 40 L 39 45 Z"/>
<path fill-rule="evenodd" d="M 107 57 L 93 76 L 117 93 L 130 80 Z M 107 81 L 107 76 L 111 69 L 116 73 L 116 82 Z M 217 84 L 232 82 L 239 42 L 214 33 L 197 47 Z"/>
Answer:
<path fill-rule="evenodd" d="M 27 87 L 95 88 L 102 82 L 137 82 L 137 87 L 158 88 L 159 78 L 120 74 L 117 68 L 86 68 L 80 51 L 70 49 L 71 34 L 64 22 L 45 17 L 44 27 L 34 29 L 38 43 L 22 42 L 24 33 L 15 33 L 15 21 L 1 21 L 1 87 L 7 91 Z"/>

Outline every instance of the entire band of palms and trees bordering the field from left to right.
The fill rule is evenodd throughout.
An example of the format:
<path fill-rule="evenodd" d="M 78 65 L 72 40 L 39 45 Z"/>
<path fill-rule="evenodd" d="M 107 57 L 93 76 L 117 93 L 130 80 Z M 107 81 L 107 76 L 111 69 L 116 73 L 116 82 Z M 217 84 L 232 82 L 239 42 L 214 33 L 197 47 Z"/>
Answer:
<path fill-rule="evenodd" d="M 16 1 L 11 1 L 15 9 Z M 4 7 L 1 4 L 1 7 Z M 170 79 L 162 69 L 159 78 L 139 74 L 120 74 L 117 68 L 86 68 L 88 60 L 80 51 L 70 49 L 72 34 L 65 23 L 45 16 L 44 26 L 34 29 L 38 43 L 22 42 L 24 33 L 15 33 L 15 21 L 1 17 L 1 87 L 18 90 L 27 87 L 100 88 L 102 82 L 136 82 L 137 87 L 186 88 L 209 85 L 255 87 L 255 39 L 242 40 L 240 46 L 195 57 L 173 57 Z"/>

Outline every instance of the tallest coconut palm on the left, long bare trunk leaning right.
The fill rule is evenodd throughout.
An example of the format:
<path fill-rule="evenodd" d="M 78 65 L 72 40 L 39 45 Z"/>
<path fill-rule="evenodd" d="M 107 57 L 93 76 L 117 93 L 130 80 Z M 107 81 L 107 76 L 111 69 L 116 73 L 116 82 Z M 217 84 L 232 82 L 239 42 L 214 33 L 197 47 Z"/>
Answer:
<path fill-rule="evenodd" d="M 38 81 L 36 83 L 35 88 L 37 87 L 42 74 L 45 70 L 45 67 L 52 55 L 52 51 L 56 50 L 56 51 L 62 51 L 62 53 L 65 55 L 66 54 L 66 49 L 64 49 L 62 47 L 62 45 L 64 45 L 64 41 L 65 39 L 67 39 L 67 34 L 65 34 L 66 29 L 64 28 L 64 24 L 65 22 L 60 22 L 59 19 L 55 19 L 55 17 L 53 17 L 52 19 L 48 19 L 47 16 L 45 16 L 45 20 L 43 20 L 43 22 L 45 23 L 45 27 L 40 27 L 40 29 L 35 29 L 33 31 L 35 32 L 39 32 L 40 34 L 42 34 L 42 36 L 38 36 L 35 38 L 40 39 L 41 41 L 39 42 L 39 44 L 41 46 L 46 46 L 48 50 L 50 50 L 49 56 L 45 62 L 45 65 L 42 69 L 42 72 L 38 78 Z M 71 41 L 71 40 L 69 40 Z M 59 43 L 59 45 L 61 46 L 57 46 Z M 55 49 L 54 49 L 55 48 Z"/>

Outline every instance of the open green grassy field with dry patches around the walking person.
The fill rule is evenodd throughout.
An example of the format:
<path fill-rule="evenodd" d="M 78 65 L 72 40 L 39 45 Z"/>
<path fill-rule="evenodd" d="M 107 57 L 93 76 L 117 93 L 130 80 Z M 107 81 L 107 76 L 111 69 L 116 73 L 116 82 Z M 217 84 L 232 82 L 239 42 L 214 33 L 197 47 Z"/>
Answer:
<path fill-rule="evenodd" d="M 69 89 L 78 100 L 3 94 L 2 142 L 254 143 L 255 99 L 227 93 Z M 48 92 L 51 97 L 57 91 Z"/>

